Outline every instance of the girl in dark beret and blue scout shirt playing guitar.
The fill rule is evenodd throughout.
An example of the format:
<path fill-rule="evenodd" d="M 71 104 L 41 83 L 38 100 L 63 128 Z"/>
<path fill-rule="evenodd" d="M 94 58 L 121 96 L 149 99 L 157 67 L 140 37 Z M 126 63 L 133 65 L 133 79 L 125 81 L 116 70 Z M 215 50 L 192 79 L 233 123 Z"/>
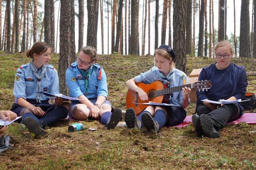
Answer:
<path fill-rule="evenodd" d="M 174 50 L 168 45 L 160 45 L 154 53 L 156 67 L 145 73 L 128 80 L 126 85 L 129 89 L 138 93 L 142 101 L 148 101 L 148 95 L 136 85 L 138 82 L 150 84 L 154 81 L 161 81 L 169 87 L 181 86 L 188 83 L 185 73 L 175 68 L 173 60 L 176 57 Z M 186 108 L 190 104 L 190 88 L 184 87 L 182 91 L 170 94 L 168 104 L 172 106 L 147 106 L 138 116 L 133 108 L 128 108 L 125 114 L 125 122 L 128 128 L 145 128 L 148 131 L 154 130 L 158 134 L 159 128 L 163 125 L 173 126 L 180 124 L 186 118 Z"/>

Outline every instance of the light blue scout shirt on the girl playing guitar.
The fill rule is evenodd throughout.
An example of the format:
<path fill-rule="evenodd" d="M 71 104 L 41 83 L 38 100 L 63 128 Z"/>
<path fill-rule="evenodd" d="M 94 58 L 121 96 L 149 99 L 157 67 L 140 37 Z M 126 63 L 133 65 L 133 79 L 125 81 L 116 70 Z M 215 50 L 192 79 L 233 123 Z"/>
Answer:
<path fill-rule="evenodd" d="M 170 75 L 170 73 L 168 74 L 168 76 L 169 75 Z M 149 71 L 147 71 L 145 73 L 141 73 L 140 75 L 138 75 L 134 78 L 135 78 L 136 82 L 143 82 L 145 84 L 150 84 L 154 81 L 159 81 L 159 80 L 161 82 L 164 82 L 162 77 L 160 76 L 160 71 L 156 66 L 152 67 L 152 69 L 150 69 Z M 168 87 L 170 88 L 170 87 L 182 86 L 182 85 L 184 85 L 184 80 L 185 80 L 186 84 L 188 84 L 188 78 L 187 78 L 186 74 L 184 72 L 174 68 L 173 76 L 171 78 L 170 85 Z M 183 97 L 182 91 L 172 93 L 172 98 L 168 103 L 173 106 L 181 107 L 182 97 Z M 190 99 L 189 99 L 189 103 L 190 103 Z"/>

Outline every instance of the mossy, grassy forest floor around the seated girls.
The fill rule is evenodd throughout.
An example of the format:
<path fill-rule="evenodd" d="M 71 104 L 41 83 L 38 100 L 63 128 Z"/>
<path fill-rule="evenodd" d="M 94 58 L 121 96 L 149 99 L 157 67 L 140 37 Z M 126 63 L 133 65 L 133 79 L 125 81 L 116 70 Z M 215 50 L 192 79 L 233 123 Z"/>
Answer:
<path fill-rule="evenodd" d="M 58 69 L 58 54 L 49 64 Z M 14 102 L 13 83 L 17 68 L 30 60 L 24 53 L 0 51 L 0 109 L 9 110 Z M 187 75 L 195 68 L 214 63 L 215 59 L 187 57 Z M 248 92 L 256 92 L 255 59 L 231 59 L 244 65 Z M 106 72 L 108 100 L 114 108 L 126 110 L 126 81 L 154 65 L 153 56 L 99 55 L 98 64 Z M 63 82 L 64 83 L 64 82 Z M 195 103 L 187 115 L 195 112 Z M 255 112 L 245 111 L 245 113 Z M 226 125 L 221 137 L 210 139 L 186 127 L 163 127 L 159 134 L 144 128 L 124 126 L 108 130 L 98 121 L 79 121 L 84 130 L 68 132 L 77 123 L 63 120 L 47 127 L 47 135 L 37 137 L 18 124 L 9 125 L 11 149 L 0 156 L 0 169 L 256 169 L 256 125 Z M 88 128 L 96 128 L 89 131 Z"/>

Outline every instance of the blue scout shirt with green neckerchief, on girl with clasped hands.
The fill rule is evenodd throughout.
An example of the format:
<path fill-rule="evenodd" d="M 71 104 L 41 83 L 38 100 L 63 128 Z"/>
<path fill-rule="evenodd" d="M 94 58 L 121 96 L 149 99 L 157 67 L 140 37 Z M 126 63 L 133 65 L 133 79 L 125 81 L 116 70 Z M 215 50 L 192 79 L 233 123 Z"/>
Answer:
<path fill-rule="evenodd" d="M 77 61 L 72 63 L 71 66 L 66 71 L 66 83 L 69 87 L 70 97 L 79 97 L 82 94 L 88 99 L 96 99 L 98 96 L 108 96 L 108 87 L 106 82 L 106 75 L 103 68 L 97 64 L 93 64 L 93 71 L 88 76 L 88 94 L 85 89 L 84 76 L 80 71 L 84 72 L 82 69 L 77 67 Z M 87 74 L 90 68 L 84 72 Z M 101 75 L 100 75 L 101 74 Z"/>

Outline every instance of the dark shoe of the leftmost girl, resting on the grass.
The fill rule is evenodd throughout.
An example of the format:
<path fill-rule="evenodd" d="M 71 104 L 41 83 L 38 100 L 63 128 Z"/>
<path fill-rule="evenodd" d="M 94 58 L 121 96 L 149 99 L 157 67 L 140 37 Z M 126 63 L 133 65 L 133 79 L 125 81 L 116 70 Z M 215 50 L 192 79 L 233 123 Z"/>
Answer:
<path fill-rule="evenodd" d="M 34 120 L 33 118 L 27 117 L 25 118 L 26 127 L 30 132 L 33 132 L 34 134 L 37 134 L 38 136 L 44 136 L 47 134 L 47 132 L 40 127 L 38 122 Z"/>

